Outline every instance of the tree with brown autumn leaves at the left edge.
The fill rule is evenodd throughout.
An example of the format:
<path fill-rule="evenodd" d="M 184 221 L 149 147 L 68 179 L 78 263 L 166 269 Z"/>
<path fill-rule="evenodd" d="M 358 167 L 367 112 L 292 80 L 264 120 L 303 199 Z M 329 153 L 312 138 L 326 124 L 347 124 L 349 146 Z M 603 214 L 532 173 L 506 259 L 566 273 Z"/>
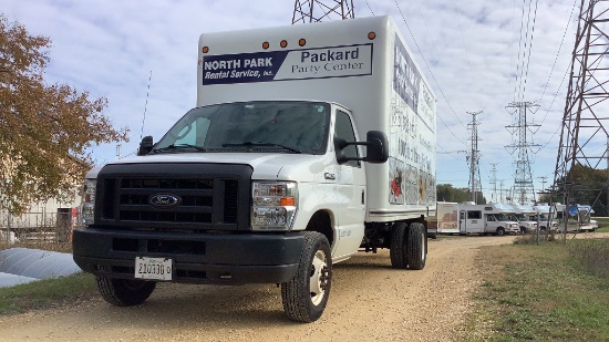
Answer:
<path fill-rule="evenodd" d="M 69 200 L 93 165 L 91 147 L 128 139 L 103 114 L 105 97 L 44 84 L 50 43 L 0 14 L 0 210 L 12 214 Z"/>

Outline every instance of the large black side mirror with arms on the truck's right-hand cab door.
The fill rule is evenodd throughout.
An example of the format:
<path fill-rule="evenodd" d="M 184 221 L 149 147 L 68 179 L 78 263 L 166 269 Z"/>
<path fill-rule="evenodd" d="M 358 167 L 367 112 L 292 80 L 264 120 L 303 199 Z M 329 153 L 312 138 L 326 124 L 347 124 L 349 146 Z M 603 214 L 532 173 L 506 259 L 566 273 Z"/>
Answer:
<path fill-rule="evenodd" d="M 365 134 L 364 142 L 348 142 L 343 138 L 334 137 L 334 149 L 337 153 L 337 162 L 344 164 L 349 160 L 362 160 L 373 164 L 382 164 L 389 159 L 389 143 L 386 135 L 381 131 L 370 131 Z M 350 145 L 365 146 L 365 157 L 353 158 L 344 155 L 342 149 Z"/>

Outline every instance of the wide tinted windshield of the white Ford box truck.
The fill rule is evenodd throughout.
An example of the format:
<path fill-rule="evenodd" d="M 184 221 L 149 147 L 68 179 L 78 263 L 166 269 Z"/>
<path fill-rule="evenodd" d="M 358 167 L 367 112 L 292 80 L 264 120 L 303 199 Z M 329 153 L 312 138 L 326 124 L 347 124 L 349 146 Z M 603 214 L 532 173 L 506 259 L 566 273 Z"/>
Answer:
<path fill-rule="evenodd" d="M 317 102 L 240 102 L 198 107 L 154 145 L 153 153 L 262 152 L 323 154 L 330 106 Z"/>

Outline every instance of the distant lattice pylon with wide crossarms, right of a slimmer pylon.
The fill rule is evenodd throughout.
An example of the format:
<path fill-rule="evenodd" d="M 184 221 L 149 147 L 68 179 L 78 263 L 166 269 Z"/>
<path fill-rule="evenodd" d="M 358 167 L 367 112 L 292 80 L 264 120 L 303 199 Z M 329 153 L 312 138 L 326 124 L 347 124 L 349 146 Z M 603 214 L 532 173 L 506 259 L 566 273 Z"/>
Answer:
<path fill-rule="evenodd" d="M 514 157 L 512 200 L 522 205 L 530 204 L 535 199 L 530 155 L 536 154 L 540 147 L 533 143 L 534 129 L 536 131 L 539 125 L 534 124 L 529 118 L 538 107 L 539 105 L 534 102 L 512 102 L 506 106 L 512 115 L 512 125 L 505 126 L 512 133 L 512 144 L 506 145 L 505 148 Z"/>

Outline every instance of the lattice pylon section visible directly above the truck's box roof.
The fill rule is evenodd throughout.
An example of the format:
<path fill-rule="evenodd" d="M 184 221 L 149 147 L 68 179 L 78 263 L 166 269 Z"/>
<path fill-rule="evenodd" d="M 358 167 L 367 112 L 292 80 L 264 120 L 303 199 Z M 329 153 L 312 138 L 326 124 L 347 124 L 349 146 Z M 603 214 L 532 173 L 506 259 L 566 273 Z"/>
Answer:
<path fill-rule="evenodd" d="M 296 0 L 292 24 L 298 22 L 319 22 L 323 20 L 353 19 L 353 0 Z"/>

